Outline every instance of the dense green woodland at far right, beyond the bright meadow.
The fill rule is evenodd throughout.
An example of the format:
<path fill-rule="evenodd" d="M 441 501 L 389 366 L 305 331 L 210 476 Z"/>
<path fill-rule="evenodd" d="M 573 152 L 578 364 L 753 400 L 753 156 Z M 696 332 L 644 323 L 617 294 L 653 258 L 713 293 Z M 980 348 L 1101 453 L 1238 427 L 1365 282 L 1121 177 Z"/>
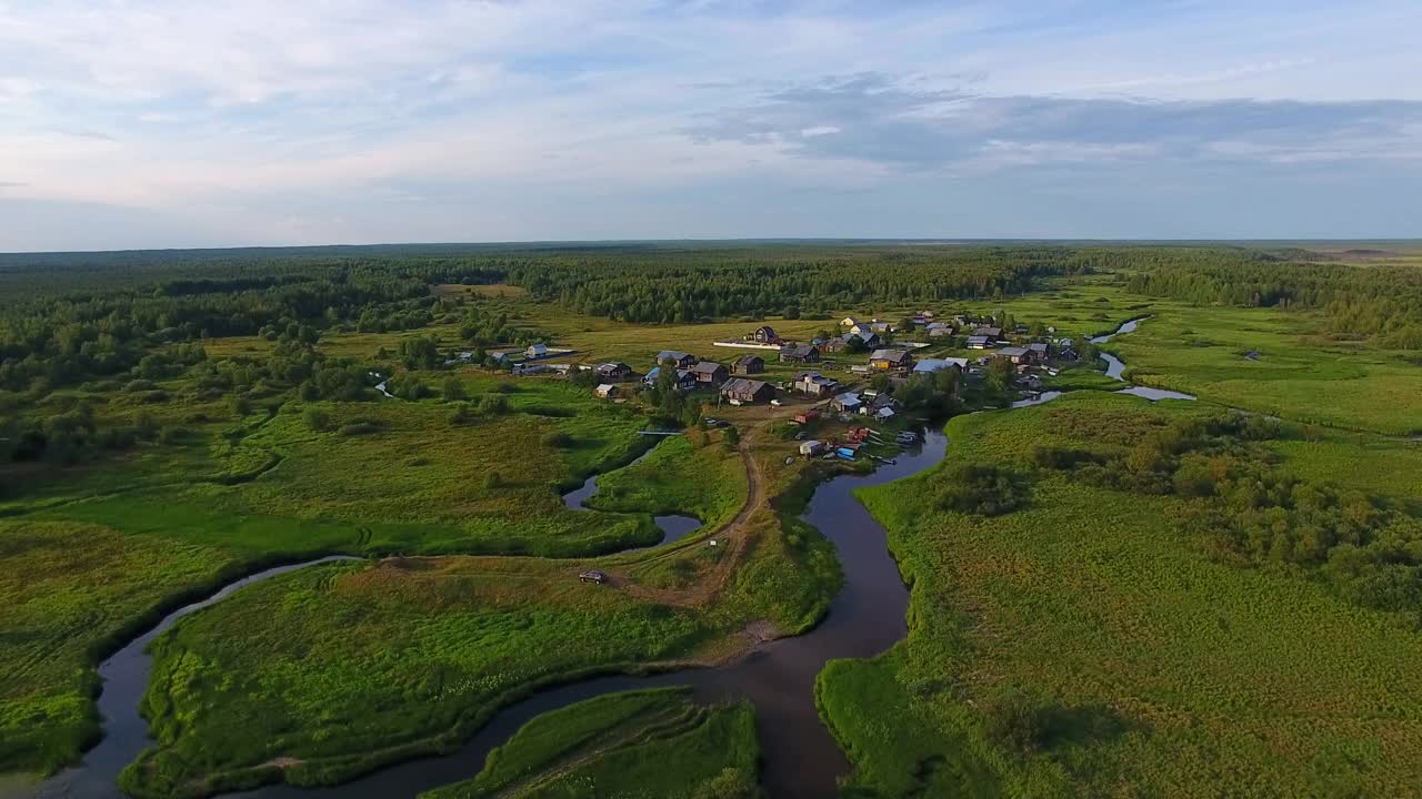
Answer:
<path fill-rule="evenodd" d="M 1199 304 L 1318 309 L 1328 333 L 1422 350 L 1422 270 L 1399 266 L 1250 262 L 1135 273 L 1132 291 Z"/>

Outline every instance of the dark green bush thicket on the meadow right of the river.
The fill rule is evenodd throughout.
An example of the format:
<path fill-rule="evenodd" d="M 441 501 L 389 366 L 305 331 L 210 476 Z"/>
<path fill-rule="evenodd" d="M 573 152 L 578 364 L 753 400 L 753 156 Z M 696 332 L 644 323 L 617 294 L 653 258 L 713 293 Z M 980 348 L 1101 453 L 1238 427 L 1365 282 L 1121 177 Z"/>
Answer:
<path fill-rule="evenodd" d="M 1217 560 L 1300 569 L 1358 604 L 1422 611 L 1422 520 L 1274 469 L 1261 442 L 1284 435 L 1230 412 L 1160 425 L 1123 452 L 1038 446 L 1034 459 L 1091 485 L 1179 498 L 1177 526 Z"/>

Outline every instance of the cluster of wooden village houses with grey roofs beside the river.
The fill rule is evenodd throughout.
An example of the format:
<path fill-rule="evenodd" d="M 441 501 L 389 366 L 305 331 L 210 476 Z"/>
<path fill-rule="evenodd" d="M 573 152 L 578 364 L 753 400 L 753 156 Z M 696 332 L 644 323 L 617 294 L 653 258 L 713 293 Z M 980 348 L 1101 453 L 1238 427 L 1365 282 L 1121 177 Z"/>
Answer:
<path fill-rule="evenodd" d="M 1055 328 L 1005 328 L 1011 317 L 1001 316 L 936 318 L 929 310 L 899 321 L 846 316 L 808 341 L 782 338 L 761 324 L 741 338 L 710 341 L 724 353 L 714 358 L 661 350 L 648 353 L 644 370 L 626 361 L 574 363 L 570 357 L 580 353 L 547 344 L 489 357 L 513 375 L 574 380 L 609 402 L 660 388 L 694 397 L 707 409 L 761 405 L 793 425 L 789 435 L 799 441 L 801 455 L 853 461 L 866 445 L 916 441 L 910 428 L 931 415 L 920 407 L 926 392 L 954 402 L 966 392 L 1031 401 L 1047 378 L 1081 360 L 1076 343 L 1055 337 Z M 461 353 L 449 363 L 466 358 Z M 910 388 L 914 384 L 920 391 Z M 988 384 L 995 392 L 984 392 Z M 720 424 L 710 415 L 702 421 Z"/>

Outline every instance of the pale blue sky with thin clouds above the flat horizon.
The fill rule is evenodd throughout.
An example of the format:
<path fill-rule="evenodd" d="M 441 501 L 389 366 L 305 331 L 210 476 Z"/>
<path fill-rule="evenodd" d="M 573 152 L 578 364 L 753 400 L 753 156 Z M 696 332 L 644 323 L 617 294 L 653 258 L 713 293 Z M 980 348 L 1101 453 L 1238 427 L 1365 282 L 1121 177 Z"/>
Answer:
<path fill-rule="evenodd" d="M 0 0 L 0 252 L 1422 236 L 1418 0 Z"/>

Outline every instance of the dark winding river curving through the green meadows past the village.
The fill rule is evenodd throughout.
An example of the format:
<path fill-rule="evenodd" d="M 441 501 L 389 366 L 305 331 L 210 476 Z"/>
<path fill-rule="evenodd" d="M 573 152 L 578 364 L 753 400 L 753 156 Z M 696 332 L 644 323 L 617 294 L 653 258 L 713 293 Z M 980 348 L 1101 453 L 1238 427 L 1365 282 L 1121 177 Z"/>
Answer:
<path fill-rule="evenodd" d="M 1109 341 L 1121 333 L 1130 333 L 1140 320 L 1121 326 L 1111 336 L 1092 338 Z M 1102 353 L 1108 374 L 1123 381 L 1123 364 Z M 1160 390 L 1123 390 L 1148 400 L 1194 397 Z M 1143 394 L 1149 391 L 1155 397 Z M 1037 405 L 1059 397 L 1041 397 L 1015 402 L 1014 407 Z M 815 489 L 805 520 L 833 542 L 843 567 L 845 583 L 830 603 L 825 620 L 809 633 L 771 641 L 751 655 L 721 668 L 704 668 L 658 674 L 653 677 L 600 677 L 540 691 L 503 708 L 476 732 L 461 749 L 451 755 L 425 758 L 384 768 L 364 778 L 331 788 L 292 788 L 274 785 L 235 796 L 249 799 L 309 799 L 356 798 L 391 799 L 412 798 L 419 792 L 472 778 L 483 768 L 485 758 L 525 722 L 569 704 L 613 691 L 688 685 L 702 701 L 747 698 L 755 704 L 757 725 L 764 749 L 762 785 L 771 796 L 830 799 L 836 796 L 836 778 L 846 773 L 849 763 L 829 735 L 815 708 L 815 678 L 832 658 L 866 658 L 886 651 L 907 634 L 906 613 L 909 589 L 899 567 L 884 546 L 884 529 L 855 499 L 862 486 L 880 485 L 919 473 L 937 465 L 947 451 L 947 436 L 927 431 L 920 445 L 903 452 L 894 463 L 880 463 L 869 475 L 839 475 Z M 650 449 L 648 449 L 650 452 Z M 643 455 L 643 458 L 646 454 Z M 638 458 L 640 459 L 640 458 Z M 596 492 L 596 475 L 565 495 L 569 508 L 582 508 Z M 657 516 L 657 525 L 667 540 L 700 527 L 690 516 Z M 678 526 L 680 525 L 680 526 Z M 294 569 L 343 557 L 324 557 L 310 563 L 282 566 L 237 580 L 203 601 L 186 606 L 156 627 L 135 638 L 114 657 L 100 665 L 104 692 L 98 707 L 104 715 L 105 738 L 85 754 L 81 765 L 46 782 L 38 796 L 73 799 L 115 799 L 122 795 L 114 786 L 118 772 L 149 744 L 146 722 L 138 715 L 138 701 L 148 682 L 148 643 L 172 624 L 196 610 L 220 601 L 250 583 Z"/>

